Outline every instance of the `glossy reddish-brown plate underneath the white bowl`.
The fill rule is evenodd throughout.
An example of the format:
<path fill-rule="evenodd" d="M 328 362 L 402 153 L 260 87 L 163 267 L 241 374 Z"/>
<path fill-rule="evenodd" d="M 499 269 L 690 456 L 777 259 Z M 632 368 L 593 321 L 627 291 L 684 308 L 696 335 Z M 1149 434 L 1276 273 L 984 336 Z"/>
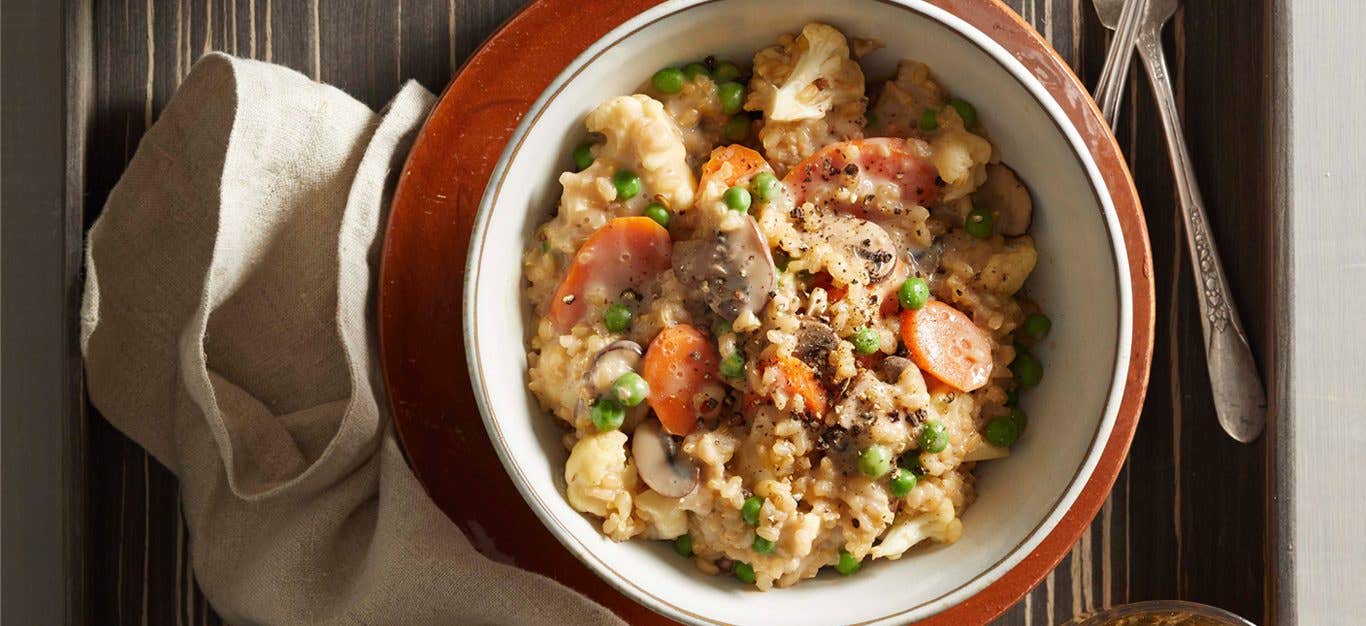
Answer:
<path fill-rule="evenodd" d="M 930 623 L 982 623 L 1052 570 L 1090 523 L 1123 465 L 1153 349 L 1152 251 L 1138 194 L 1108 126 L 1068 66 L 997 0 L 932 0 L 988 33 L 1031 70 L 1091 149 L 1123 230 L 1132 283 L 1126 388 L 1105 451 L 1053 532 L 1003 578 Z M 489 38 L 451 82 L 399 180 L 380 271 L 380 349 L 389 406 L 408 461 L 475 545 L 546 574 L 631 623 L 665 622 L 579 563 L 541 525 L 484 429 L 466 369 L 462 279 L 485 183 L 531 103 L 575 56 L 652 0 L 541 0 Z M 515 79 L 512 78 L 515 77 Z"/>

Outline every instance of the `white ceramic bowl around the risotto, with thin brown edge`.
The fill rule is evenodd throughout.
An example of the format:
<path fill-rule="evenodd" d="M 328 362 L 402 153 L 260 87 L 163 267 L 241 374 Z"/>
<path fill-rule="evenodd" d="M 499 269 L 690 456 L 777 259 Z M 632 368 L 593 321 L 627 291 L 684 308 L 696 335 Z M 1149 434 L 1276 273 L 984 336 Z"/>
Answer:
<path fill-rule="evenodd" d="M 564 499 L 561 426 L 526 390 L 520 254 L 559 200 L 557 175 L 602 100 L 631 93 L 664 66 L 706 55 L 749 59 L 810 21 L 887 48 L 870 78 L 899 59 L 928 63 L 977 105 L 1003 159 L 1035 200 L 1040 250 L 1030 294 L 1053 318 L 1038 350 L 1044 384 L 1029 394 L 1030 428 L 1012 457 L 978 467 L 963 537 L 854 577 L 822 574 L 757 592 L 708 577 L 668 543 L 615 543 Z M 626 595 L 697 623 L 908 622 L 1000 578 L 1053 529 L 1090 476 L 1119 410 L 1130 354 L 1130 284 L 1119 224 L 1079 134 L 1020 63 L 981 31 L 919 0 L 682 0 L 623 23 L 590 46 L 531 107 L 504 150 L 475 221 L 464 294 L 469 365 L 485 425 L 523 498 L 552 533 Z"/>

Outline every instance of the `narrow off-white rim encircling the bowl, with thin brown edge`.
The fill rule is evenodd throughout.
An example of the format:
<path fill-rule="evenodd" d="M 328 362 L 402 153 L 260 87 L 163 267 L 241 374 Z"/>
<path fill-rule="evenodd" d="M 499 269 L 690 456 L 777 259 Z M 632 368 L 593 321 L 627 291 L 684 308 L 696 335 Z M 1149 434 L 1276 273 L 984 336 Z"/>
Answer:
<path fill-rule="evenodd" d="M 611 584 L 613 588 L 627 595 L 628 597 L 639 601 L 652 610 L 668 615 L 673 619 L 682 619 L 687 622 L 701 622 L 701 623 L 720 623 L 714 618 L 699 615 L 688 611 L 684 607 L 675 605 L 653 593 L 650 593 L 645 586 L 630 581 L 627 577 L 619 574 L 612 569 L 609 563 L 598 558 L 593 549 L 586 547 L 579 541 L 572 530 L 563 526 L 559 518 L 550 511 L 549 506 L 540 498 L 540 495 L 533 489 L 530 480 L 522 473 L 520 466 L 516 462 L 515 455 L 511 454 L 510 444 L 504 437 L 501 428 L 499 426 L 499 420 L 489 405 L 489 390 L 486 388 L 486 376 L 484 370 L 484 364 L 479 359 L 479 332 L 478 332 L 478 306 L 475 305 L 475 295 L 478 292 L 478 282 L 481 276 L 479 260 L 486 250 L 485 239 L 488 236 L 489 219 L 493 206 L 497 204 L 501 186 L 507 179 L 508 167 L 512 159 L 520 152 L 526 137 L 533 126 L 545 113 L 549 104 L 564 90 L 564 87 L 578 77 L 587 66 L 590 66 L 598 56 L 605 53 L 608 49 L 617 45 L 622 40 L 637 31 L 658 22 L 667 16 L 693 10 L 695 7 L 721 3 L 727 0 L 675 0 L 667 1 L 660 5 L 652 7 L 626 22 L 620 23 L 611 31 L 608 31 L 601 38 L 596 40 L 587 46 L 581 55 L 578 55 L 564 70 L 561 70 L 555 79 L 541 92 L 537 100 L 531 104 L 527 113 L 522 118 L 516 130 L 510 137 L 505 148 L 499 156 L 497 164 L 494 165 L 488 185 L 479 200 L 478 210 L 474 219 L 474 228 L 470 236 L 470 246 L 466 258 L 466 273 L 463 279 L 463 292 L 469 297 L 464 298 L 462 303 L 462 321 L 463 321 L 463 336 L 466 344 L 466 361 L 470 372 L 471 381 L 474 383 L 474 398 L 479 409 L 479 416 L 484 421 L 490 439 L 494 443 L 494 451 L 501 461 L 504 469 L 512 477 L 512 482 L 516 485 L 523 500 L 527 502 L 533 513 L 541 521 L 541 523 L 564 545 L 571 554 L 574 554 L 581 562 L 583 562 L 589 569 L 591 569 L 600 578 Z M 1049 508 L 1049 514 L 1034 526 L 1027 536 L 1011 548 L 1004 558 L 990 564 L 982 570 L 978 575 L 973 577 L 967 582 L 959 585 L 958 588 L 940 595 L 936 599 L 921 601 L 912 607 L 899 610 L 889 615 L 878 616 L 861 623 L 884 623 L 892 621 L 903 619 L 923 619 L 932 616 L 945 608 L 962 603 L 977 593 L 982 592 L 993 582 L 1007 575 L 1014 570 L 1024 558 L 1027 558 L 1044 540 L 1059 526 L 1063 517 L 1070 511 L 1070 508 L 1076 503 L 1083 488 L 1091 478 L 1093 472 L 1100 463 L 1105 454 L 1106 444 L 1109 443 L 1113 426 L 1117 421 L 1119 411 L 1126 395 L 1126 376 L 1130 370 L 1131 362 L 1131 349 L 1134 340 L 1134 325 L 1132 325 L 1132 303 L 1134 292 L 1130 276 L 1130 264 L 1127 257 L 1127 245 L 1124 241 L 1124 232 L 1120 226 L 1117 210 L 1113 205 L 1113 200 L 1109 193 L 1109 186 L 1102 176 L 1098 164 L 1091 156 L 1090 149 L 1082 139 L 1081 131 L 1076 128 L 1074 122 L 1068 118 L 1063 107 L 1056 101 L 1056 98 L 1048 92 L 1048 89 L 1038 81 L 1038 78 L 1030 72 L 1014 55 L 1011 55 L 1001 44 L 994 41 L 988 34 L 982 33 L 967 21 L 945 11 L 940 7 L 929 4 L 925 0 L 873 0 L 882 4 L 899 7 L 910 12 L 918 14 L 922 18 L 928 18 L 932 22 L 937 22 L 941 27 L 955 36 L 966 40 L 968 44 L 974 45 L 988 57 L 994 60 L 1007 74 L 1011 75 L 1040 105 L 1048 119 L 1055 124 L 1057 131 L 1065 139 L 1068 148 L 1071 149 L 1072 157 L 1076 159 L 1078 164 L 1082 167 L 1086 180 L 1089 183 L 1090 191 L 1096 197 L 1096 202 L 1101 209 L 1102 223 L 1105 226 L 1106 235 L 1109 238 L 1111 257 L 1113 262 L 1113 272 L 1116 279 L 1116 298 L 1117 298 L 1117 334 L 1115 346 L 1115 359 L 1112 365 L 1111 383 L 1106 394 L 1105 407 L 1101 414 L 1101 420 L 1097 422 L 1096 432 L 1091 435 L 1087 451 L 1082 463 L 1078 466 L 1067 488 L 1059 496 L 1059 499 Z"/>

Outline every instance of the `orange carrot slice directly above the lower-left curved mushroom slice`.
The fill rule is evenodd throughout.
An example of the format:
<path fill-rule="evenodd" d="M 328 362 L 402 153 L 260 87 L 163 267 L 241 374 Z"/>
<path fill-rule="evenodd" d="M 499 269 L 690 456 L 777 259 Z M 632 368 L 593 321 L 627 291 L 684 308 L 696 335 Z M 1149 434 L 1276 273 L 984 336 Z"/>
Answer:
<path fill-rule="evenodd" d="M 641 373 L 650 384 L 650 409 L 671 435 L 697 426 L 695 406 L 702 387 L 716 380 L 720 357 L 706 334 L 679 324 L 654 335 Z"/>

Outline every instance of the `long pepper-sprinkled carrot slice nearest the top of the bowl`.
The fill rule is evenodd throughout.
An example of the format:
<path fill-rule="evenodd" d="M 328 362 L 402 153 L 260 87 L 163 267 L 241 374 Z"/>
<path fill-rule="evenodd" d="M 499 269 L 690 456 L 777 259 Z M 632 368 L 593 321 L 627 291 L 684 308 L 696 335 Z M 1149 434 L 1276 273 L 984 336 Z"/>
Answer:
<path fill-rule="evenodd" d="M 783 183 L 791 190 L 795 205 L 800 206 L 813 191 L 832 182 L 837 183 L 841 176 L 893 182 L 900 187 L 903 202 L 921 206 L 929 206 L 940 190 L 934 164 L 912 150 L 907 139 L 895 137 L 831 144 L 790 169 L 783 176 Z M 855 217 L 873 219 L 865 200 L 837 209 Z"/>

